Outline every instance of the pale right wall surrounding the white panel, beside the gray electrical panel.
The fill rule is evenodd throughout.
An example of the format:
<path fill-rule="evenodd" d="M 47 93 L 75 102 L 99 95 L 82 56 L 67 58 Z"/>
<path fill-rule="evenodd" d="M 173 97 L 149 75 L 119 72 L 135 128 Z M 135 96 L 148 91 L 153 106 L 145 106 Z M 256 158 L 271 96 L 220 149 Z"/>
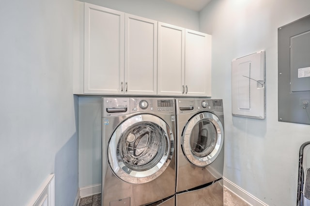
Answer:
<path fill-rule="evenodd" d="M 278 121 L 278 28 L 310 15 L 309 0 L 213 0 L 200 13 L 212 34 L 212 94 L 224 100 L 224 177 L 270 206 L 296 205 L 299 147 L 310 125 Z M 266 118 L 232 117 L 231 61 L 266 51 Z"/>

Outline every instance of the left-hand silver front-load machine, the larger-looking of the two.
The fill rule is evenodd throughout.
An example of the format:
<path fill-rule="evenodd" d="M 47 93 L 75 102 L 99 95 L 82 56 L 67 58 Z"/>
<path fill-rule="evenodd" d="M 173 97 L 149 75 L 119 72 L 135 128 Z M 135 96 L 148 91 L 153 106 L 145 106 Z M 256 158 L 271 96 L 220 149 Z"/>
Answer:
<path fill-rule="evenodd" d="M 175 101 L 102 98 L 103 206 L 175 205 Z"/>

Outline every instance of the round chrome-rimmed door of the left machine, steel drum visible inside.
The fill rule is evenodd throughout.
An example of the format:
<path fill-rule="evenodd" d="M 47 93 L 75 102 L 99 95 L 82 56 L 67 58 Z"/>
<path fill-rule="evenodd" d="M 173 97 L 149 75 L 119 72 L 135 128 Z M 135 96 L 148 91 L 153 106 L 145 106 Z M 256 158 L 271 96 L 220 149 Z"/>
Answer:
<path fill-rule="evenodd" d="M 154 115 L 126 119 L 108 144 L 109 165 L 120 179 L 134 184 L 152 181 L 168 167 L 174 140 L 169 125 Z"/>

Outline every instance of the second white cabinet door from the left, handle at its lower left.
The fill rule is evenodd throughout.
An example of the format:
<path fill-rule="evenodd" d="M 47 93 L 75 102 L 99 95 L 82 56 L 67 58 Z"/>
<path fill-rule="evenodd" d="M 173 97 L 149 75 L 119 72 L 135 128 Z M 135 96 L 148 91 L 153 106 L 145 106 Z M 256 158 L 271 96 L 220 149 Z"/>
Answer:
<path fill-rule="evenodd" d="M 125 94 L 156 94 L 157 21 L 125 14 Z"/>

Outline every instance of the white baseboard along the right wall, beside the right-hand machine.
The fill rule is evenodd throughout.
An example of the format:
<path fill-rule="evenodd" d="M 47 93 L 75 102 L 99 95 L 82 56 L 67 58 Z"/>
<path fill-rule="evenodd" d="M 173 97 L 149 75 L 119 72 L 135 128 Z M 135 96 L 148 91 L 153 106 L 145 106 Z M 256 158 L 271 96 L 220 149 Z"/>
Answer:
<path fill-rule="evenodd" d="M 240 188 L 238 185 L 234 184 L 230 180 L 223 177 L 224 187 L 228 190 L 232 191 L 235 195 L 239 196 L 245 202 L 247 202 L 251 206 L 268 206 L 263 201 L 259 200 L 255 196 L 251 195 L 247 191 Z"/>

